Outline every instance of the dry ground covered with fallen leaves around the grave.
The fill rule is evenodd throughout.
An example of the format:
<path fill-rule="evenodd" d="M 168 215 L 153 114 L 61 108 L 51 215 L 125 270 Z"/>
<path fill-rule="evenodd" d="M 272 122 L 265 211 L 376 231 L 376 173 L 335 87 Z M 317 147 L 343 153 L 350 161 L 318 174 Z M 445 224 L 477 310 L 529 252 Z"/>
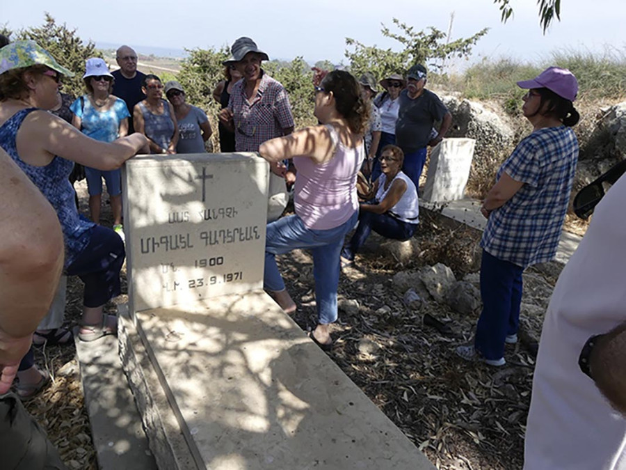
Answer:
<path fill-rule="evenodd" d="M 84 182 L 77 183 L 77 189 L 81 209 L 87 214 Z M 108 207 L 103 223 L 111 223 Z M 332 331 L 336 345 L 328 355 L 436 467 L 520 469 L 534 364 L 528 341 L 508 345 L 507 365 L 500 369 L 456 357 L 454 347 L 470 340 L 478 312 L 460 315 L 435 301 L 414 311 L 403 303 L 402 293 L 394 290 L 392 276 L 444 263 L 456 279 L 462 279 L 476 271 L 476 259 L 470 253 L 476 251 L 479 233 L 448 226 L 436 214 L 422 214 L 416 237 L 422 252 L 406 265 L 380 256 L 378 240 L 371 237 L 369 249 L 366 246 L 357 256 L 355 267 L 344 270 L 339 298 L 349 308 L 339 312 Z M 295 251 L 280 258 L 280 267 L 298 304 L 294 319 L 303 329 L 310 328 L 316 318 L 310 256 Z M 524 276 L 521 324 L 526 340 L 539 337 L 559 272 L 559 265 L 549 264 L 530 269 Z M 68 280 L 68 325 L 79 318 L 81 290 L 78 279 Z M 111 302 L 107 309 L 115 311 L 115 304 Z M 451 331 L 444 335 L 425 326 L 425 313 Z M 38 353 L 38 363 L 48 368 L 54 380 L 26 407 L 70 468 L 96 469 L 74 354 L 73 345 Z"/>

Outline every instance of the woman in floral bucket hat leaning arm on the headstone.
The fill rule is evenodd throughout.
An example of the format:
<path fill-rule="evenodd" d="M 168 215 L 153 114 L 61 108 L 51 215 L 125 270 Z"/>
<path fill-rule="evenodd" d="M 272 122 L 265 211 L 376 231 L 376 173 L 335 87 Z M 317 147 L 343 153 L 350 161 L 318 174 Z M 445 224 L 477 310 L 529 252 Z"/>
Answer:
<path fill-rule="evenodd" d="M 110 228 L 79 217 L 67 177 L 74 162 L 101 170 L 119 168 L 147 147 L 133 134 L 112 143 L 90 139 L 63 119 L 45 111 L 56 106 L 56 92 L 70 70 L 33 41 L 15 41 L 0 49 L 0 146 L 37 186 L 58 215 L 65 241 L 64 271 L 85 283 L 79 338 L 95 340 L 117 331 L 104 304 L 119 295 L 124 244 Z M 34 366 L 32 352 L 18 372 L 17 393 L 37 393 L 47 376 Z"/>

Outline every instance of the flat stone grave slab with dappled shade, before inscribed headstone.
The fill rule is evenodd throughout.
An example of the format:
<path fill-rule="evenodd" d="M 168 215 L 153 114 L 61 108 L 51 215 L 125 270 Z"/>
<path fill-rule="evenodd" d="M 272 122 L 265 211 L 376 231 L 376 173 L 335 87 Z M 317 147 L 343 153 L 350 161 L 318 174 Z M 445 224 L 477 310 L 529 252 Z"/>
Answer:
<path fill-rule="evenodd" d="M 198 468 L 434 468 L 262 291 L 136 324 Z"/>

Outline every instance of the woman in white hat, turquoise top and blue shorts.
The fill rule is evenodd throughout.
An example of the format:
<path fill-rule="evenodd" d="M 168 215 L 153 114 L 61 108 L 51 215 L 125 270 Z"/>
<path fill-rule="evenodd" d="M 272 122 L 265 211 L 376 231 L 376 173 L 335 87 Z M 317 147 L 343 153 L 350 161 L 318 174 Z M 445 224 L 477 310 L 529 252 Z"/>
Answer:
<path fill-rule="evenodd" d="M 87 93 L 72 103 L 74 113 L 72 124 L 83 134 L 102 142 L 113 142 L 128 134 L 130 113 L 126 103 L 111 95 L 113 75 L 102 58 L 87 59 L 83 75 Z M 113 212 L 113 230 L 124 240 L 122 228 L 122 171 L 120 169 L 102 171 L 86 167 L 87 189 L 89 191 L 89 211 L 91 219 L 100 223 L 100 205 L 102 204 L 102 178 L 106 182 L 106 191 L 111 197 Z"/>

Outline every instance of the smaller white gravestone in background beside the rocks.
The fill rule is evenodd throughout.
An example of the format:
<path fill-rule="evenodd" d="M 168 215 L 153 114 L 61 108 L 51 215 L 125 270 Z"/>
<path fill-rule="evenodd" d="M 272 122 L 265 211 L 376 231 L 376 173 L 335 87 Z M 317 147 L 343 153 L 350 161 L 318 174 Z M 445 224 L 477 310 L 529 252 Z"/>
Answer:
<path fill-rule="evenodd" d="M 470 177 L 474 139 L 444 139 L 431 150 L 422 199 L 431 203 L 463 199 Z"/>

